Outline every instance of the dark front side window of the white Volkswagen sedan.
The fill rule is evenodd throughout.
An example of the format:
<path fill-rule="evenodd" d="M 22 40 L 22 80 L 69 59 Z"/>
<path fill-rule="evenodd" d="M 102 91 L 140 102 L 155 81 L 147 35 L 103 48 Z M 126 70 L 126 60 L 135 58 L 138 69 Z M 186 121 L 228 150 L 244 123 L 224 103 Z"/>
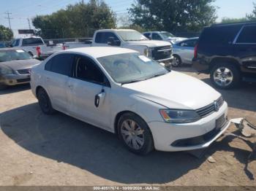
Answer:
<path fill-rule="evenodd" d="M 105 82 L 105 76 L 96 66 L 96 63 L 91 61 L 91 59 L 82 56 L 75 57 L 73 77 L 99 84 L 103 84 Z"/>

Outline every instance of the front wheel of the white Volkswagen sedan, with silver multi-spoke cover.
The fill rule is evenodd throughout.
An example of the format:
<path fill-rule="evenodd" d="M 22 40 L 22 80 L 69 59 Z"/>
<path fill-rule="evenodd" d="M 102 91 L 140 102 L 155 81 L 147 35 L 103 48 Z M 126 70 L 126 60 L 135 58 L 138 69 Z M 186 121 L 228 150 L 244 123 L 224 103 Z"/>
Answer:
<path fill-rule="evenodd" d="M 118 120 L 118 136 L 131 152 L 147 155 L 154 149 L 151 130 L 146 122 L 136 114 L 123 114 Z"/>

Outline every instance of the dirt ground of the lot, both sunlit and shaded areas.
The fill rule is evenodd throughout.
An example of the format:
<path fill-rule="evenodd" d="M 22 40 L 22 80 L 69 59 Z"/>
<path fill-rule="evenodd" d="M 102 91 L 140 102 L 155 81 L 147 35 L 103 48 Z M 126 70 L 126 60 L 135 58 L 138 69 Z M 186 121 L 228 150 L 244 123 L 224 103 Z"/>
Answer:
<path fill-rule="evenodd" d="M 207 75 L 189 67 L 176 70 L 210 84 Z M 220 92 L 230 118 L 246 117 L 256 124 L 256 85 Z M 0 113 L 0 185 L 256 186 L 256 161 L 245 168 L 251 149 L 239 139 L 212 144 L 206 154 L 215 163 L 187 152 L 140 157 L 111 133 L 65 114 L 42 114 L 29 85 L 1 91 Z"/>

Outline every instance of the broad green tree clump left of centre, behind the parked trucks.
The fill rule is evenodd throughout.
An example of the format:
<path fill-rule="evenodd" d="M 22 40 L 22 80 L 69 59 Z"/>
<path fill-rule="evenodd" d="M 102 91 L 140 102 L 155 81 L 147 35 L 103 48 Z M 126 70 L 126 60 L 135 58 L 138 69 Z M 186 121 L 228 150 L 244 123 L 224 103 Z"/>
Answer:
<path fill-rule="evenodd" d="M 45 39 L 89 37 L 95 29 L 115 28 L 116 15 L 104 1 L 91 0 L 70 4 L 51 15 L 37 15 L 32 23 Z"/>

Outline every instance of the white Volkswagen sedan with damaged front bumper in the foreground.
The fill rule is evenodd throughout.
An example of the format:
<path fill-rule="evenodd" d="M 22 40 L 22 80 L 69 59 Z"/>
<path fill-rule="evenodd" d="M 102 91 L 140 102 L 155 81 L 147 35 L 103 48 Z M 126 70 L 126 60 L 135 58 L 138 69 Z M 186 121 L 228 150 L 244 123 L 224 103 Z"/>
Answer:
<path fill-rule="evenodd" d="M 45 114 L 57 110 L 116 133 L 142 155 L 206 148 L 230 125 L 212 87 L 124 48 L 51 55 L 32 69 L 31 89 Z"/>

